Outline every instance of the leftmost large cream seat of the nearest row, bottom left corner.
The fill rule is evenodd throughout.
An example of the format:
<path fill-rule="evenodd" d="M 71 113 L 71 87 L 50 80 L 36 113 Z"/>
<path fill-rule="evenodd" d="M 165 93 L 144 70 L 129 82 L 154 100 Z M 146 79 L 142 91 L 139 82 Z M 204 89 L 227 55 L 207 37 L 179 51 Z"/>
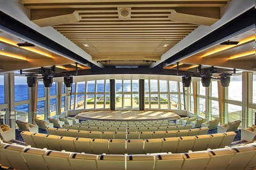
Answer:
<path fill-rule="evenodd" d="M 29 170 L 28 164 L 24 161 L 21 155 L 22 150 L 25 148 L 26 146 L 16 145 L 16 143 L 13 143 L 12 145 L 2 147 L 1 152 L 14 169 Z"/>

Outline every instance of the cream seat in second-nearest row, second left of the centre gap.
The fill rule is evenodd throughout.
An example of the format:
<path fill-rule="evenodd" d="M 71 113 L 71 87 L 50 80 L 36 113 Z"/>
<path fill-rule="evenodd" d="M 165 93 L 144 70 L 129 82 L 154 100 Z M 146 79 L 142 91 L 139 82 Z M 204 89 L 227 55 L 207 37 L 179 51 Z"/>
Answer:
<path fill-rule="evenodd" d="M 108 139 L 92 139 L 90 141 L 93 154 L 108 154 Z"/>

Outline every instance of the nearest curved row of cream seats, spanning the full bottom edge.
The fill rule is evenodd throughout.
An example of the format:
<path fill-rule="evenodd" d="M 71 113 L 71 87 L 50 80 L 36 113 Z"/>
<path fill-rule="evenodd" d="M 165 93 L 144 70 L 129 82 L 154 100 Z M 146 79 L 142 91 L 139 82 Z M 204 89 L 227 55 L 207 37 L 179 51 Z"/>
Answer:
<path fill-rule="evenodd" d="M 256 144 L 189 153 L 92 155 L 1 143 L 1 164 L 24 170 L 250 170 L 256 167 Z"/>

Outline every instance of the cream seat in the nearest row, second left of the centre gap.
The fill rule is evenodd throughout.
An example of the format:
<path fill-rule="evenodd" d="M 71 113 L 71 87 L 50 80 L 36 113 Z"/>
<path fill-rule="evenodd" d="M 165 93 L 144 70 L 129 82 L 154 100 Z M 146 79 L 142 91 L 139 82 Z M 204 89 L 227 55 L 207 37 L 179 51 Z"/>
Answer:
<path fill-rule="evenodd" d="M 68 158 L 72 170 L 97 170 L 98 155 L 72 153 Z"/>

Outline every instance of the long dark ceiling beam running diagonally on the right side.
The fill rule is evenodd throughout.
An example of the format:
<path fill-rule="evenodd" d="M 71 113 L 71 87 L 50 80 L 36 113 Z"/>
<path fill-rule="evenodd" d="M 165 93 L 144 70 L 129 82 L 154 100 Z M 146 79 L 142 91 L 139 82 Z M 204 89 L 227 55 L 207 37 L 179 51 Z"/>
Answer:
<path fill-rule="evenodd" d="M 198 41 L 184 48 L 180 52 L 175 53 L 175 55 L 172 55 L 171 57 L 169 57 L 169 59 L 164 60 L 158 65 L 163 66 L 163 64 L 165 63 L 172 64 L 178 62 L 179 60 L 188 57 L 189 54 L 204 49 L 205 46 L 211 46 L 212 44 L 216 43 L 216 41 L 220 41 L 221 39 L 225 39 L 228 36 L 252 29 L 253 27 L 255 28 L 254 7 L 234 18 L 227 24 L 216 29 L 215 31 L 207 34 L 207 36 L 204 36 L 204 38 L 199 39 Z"/>

